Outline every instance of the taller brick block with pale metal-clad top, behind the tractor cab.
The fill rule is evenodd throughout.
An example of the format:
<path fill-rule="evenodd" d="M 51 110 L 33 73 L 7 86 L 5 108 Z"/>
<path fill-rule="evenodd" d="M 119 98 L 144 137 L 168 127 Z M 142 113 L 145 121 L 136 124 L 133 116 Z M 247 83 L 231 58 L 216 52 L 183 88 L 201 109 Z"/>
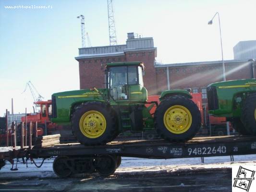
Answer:
<path fill-rule="evenodd" d="M 135 38 L 134 33 L 128 33 L 125 45 L 79 48 L 79 56 L 75 59 L 79 61 L 80 89 L 104 87 L 101 63 L 143 61 L 146 67 L 145 87 L 149 94 L 157 94 L 156 57 L 153 38 Z"/>

